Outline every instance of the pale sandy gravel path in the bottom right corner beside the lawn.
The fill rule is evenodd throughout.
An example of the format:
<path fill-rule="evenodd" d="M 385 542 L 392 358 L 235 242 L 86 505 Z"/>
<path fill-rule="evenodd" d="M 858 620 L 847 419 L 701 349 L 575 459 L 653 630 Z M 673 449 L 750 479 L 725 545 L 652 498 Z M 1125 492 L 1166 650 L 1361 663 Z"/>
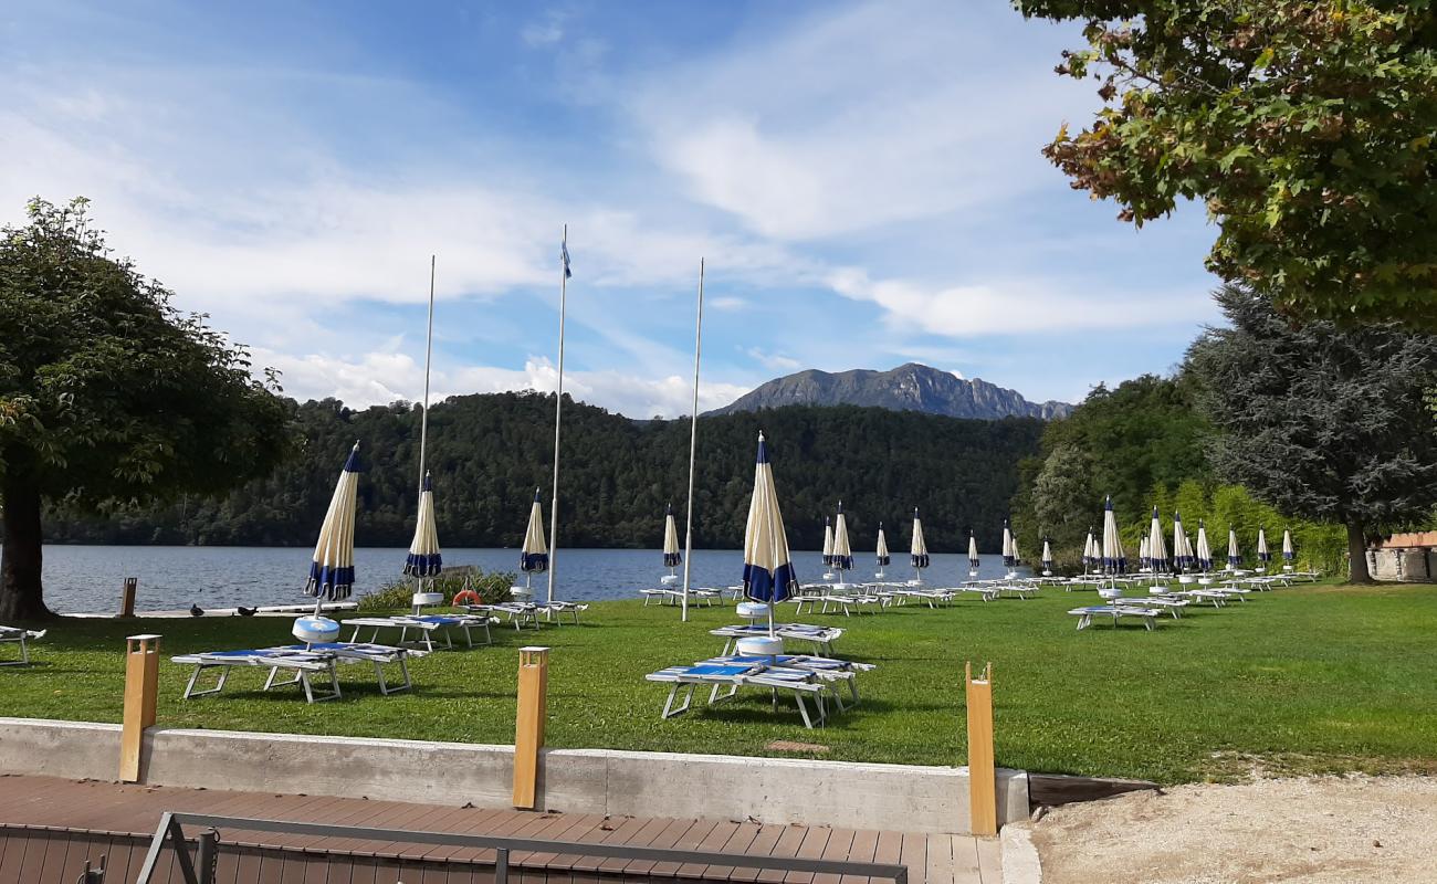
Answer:
<path fill-rule="evenodd" d="M 1437 881 L 1437 778 L 1178 786 L 1033 825 L 1043 884 Z"/>

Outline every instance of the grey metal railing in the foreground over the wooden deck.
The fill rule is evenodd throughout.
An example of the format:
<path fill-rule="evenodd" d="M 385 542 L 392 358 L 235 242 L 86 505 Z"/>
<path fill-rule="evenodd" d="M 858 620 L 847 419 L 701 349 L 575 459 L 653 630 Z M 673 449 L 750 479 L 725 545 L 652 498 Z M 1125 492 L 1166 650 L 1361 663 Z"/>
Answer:
<path fill-rule="evenodd" d="M 204 827 L 198 848 L 191 860 L 190 845 L 181 827 Z M 427 844 L 433 847 L 468 847 L 494 851 L 494 884 L 509 881 L 509 854 L 512 851 L 555 854 L 568 857 L 602 857 L 605 860 L 642 860 L 654 862 L 675 862 L 680 865 L 717 865 L 724 868 L 760 868 L 772 871 L 825 873 L 833 875 L 855 875 L 865 878 L 888 878 L 894 884 L 908 884 L 908 867 L 891 862 L 856 862 L 849 860 L 808 860 L 802 857 L 750 857 L 746 854 L 723 854 L 697 850 L 658 847 L 632 847 L 627 844 L 592 844 L 579 841 L 546 841 L 540 838 L 503 838 L 493 835 L 466 835 L 460 832 L 415 832 L 408 829 L 376 829 L 348 825 L 326 825 L 322 822 L 290 822 L 285 819 L 246 819 L 243 816 L 210 816 L 205 814 L 171 814 L 160 818 L 160 828 L 149 842 L 149 852 L 139 868 L 137 884 L 151 884 L 151 875 L 160 862 L 165 847 L 174 850 L 175 865 L 185 884 L 214 884 L 214 864 L 218 858 L 220 828 L 247 832 L 279 832 L 285 835 L 310 835 L 318 838 L 345 838 L 358 841 L 381 841 Z M 280 848 L 283 850 L 283 848 Z"/>

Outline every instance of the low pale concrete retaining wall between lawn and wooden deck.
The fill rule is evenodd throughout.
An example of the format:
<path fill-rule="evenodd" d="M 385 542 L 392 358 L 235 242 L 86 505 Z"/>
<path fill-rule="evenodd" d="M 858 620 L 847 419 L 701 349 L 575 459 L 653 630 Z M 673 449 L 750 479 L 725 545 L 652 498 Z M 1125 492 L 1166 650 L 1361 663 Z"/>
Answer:
<path fill-rule="evenodd" d="M 510 806 L 512 746 L 161 727 L 145 745 L 149 785 Z M 114 779 L 118 760 L 118 724 L 0 719 L 0 772 Z M 539 793 L 572 814 L 969 831 L 966 768 L 550 749 Z M 1026 816 L 1027 775 L 999 770 L 999 821 Z"/>

